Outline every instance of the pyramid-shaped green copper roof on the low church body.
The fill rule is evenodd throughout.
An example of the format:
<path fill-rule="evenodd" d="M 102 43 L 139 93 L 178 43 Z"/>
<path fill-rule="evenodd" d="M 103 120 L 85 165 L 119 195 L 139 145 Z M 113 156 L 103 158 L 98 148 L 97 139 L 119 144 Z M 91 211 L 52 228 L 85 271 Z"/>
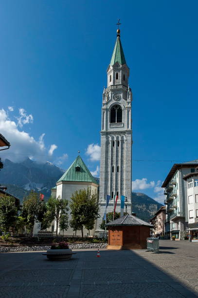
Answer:
<path fill-rule="evenodd" d="M 80 171 L 77 171 L 76 167 L 80 167 Z M 89 169 L 86 167 L 80 155 L 78 155 L 78 157 L 74 160 L 70 168 L 67 169 L 67 171 L 57 182 L 60 181 L 81 181 L 93 182 L 95 184 L 98 184 L 91 175 Z"/>

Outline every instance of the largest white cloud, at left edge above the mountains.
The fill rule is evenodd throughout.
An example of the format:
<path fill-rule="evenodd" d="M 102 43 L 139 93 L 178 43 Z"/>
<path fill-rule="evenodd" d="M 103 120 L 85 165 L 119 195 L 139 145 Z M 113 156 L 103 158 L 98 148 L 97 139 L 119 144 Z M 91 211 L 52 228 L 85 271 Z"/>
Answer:
<path fill-rule="evenodd" d="M 24 123 L 22 119 L 21 121 Z M 17 121 L 12 121 L 8 112 L 3 109 L 0 110 L 0 133 L 11 144 L 10 149 L 1 151 L 3 159 L 8 158 L 14 162 L 20 162 L 27 157 L 31 157 L 40 162 L 46 161 L 48 152 L 44 144 L 45 134 L 42 133 L 39 140 L 36 141 L 28 132 L 19 130 Z"/>

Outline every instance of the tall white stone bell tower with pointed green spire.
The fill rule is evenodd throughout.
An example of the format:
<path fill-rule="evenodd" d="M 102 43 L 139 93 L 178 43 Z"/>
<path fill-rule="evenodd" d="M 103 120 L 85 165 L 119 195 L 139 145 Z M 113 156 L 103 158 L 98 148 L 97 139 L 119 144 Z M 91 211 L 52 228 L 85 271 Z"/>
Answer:
<path fill-rule="evenodd" d="M 100 160 L 100 218 L 99 232 L 105 208 L 106 195 L 110 195 L 107 213 L 113 211 L 113 197 L 118 195 L 116 211 L 120 212 L 120 196 L 127 197 L 127 213 L 131 213 L 132 180 L 132 92 L 128 85 L 129 68 L 126 65 L 120 30 L 113 55 L 107 69 L 107 88 L 102 100 L 101 160 Z"/>

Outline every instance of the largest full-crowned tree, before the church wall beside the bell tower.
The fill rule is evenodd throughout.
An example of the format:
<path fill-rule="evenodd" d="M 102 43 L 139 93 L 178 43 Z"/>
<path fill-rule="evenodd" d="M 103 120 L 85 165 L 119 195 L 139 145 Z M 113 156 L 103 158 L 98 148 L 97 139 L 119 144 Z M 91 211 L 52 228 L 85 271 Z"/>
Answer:
<path fill-rule="evenodd" d="M 83 227 L 93 223 L 98 217 L 99 206 L 97 192 L 91 192 L 91 188 L 76 190 L 71 197 L 72 223 L 81 230 L 83 238 Z"/>

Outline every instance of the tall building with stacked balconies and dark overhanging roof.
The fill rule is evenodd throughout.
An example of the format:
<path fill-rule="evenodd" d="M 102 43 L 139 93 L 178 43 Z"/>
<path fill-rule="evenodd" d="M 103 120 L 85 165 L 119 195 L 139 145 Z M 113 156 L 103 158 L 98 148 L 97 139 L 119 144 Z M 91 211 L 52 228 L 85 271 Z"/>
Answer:
<path fill-rule="evenodd" d="M 187 183 L 183 177 L 189 172 L 194 173 L 197 167 L 198 160 L 174 164 L 162 184 L 166 196 L 166 239 L 175 236 L 176 240 L 184 240 L 188 234 Z"/>

